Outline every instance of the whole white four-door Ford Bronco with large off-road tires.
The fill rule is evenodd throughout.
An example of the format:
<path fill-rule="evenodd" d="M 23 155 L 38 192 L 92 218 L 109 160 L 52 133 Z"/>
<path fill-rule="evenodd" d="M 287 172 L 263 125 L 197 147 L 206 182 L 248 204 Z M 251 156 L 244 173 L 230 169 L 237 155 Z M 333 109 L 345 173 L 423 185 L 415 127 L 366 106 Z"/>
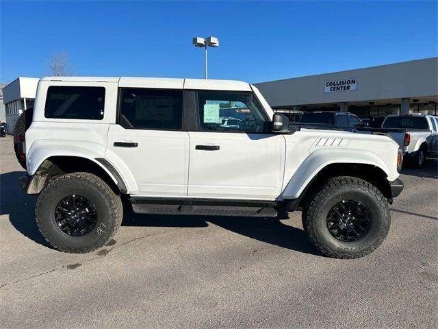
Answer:
<path fill-rule="evenodd" d="M 21 186 L 39 194 L 38 228 L 63 252 L 105 245 L 124 210 L 281 209 L 302 210 L 323 254 L 357 258 L 385 239 L 388 204 L 403 188 L 391 138 L 289 127 L 238 81 L 44 77 L 22 148 Z"/>

